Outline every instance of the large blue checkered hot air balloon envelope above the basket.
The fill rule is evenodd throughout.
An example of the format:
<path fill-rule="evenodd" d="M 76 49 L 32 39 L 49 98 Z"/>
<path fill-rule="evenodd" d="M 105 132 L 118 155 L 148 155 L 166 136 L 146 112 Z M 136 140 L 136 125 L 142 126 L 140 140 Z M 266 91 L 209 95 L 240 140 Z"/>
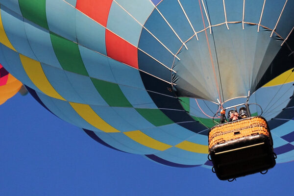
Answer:
<path fill-rule="evenodd" d="M 249 91 L 287 162 L 293 10 L 293 0 L 0 0 L 0 63 L 99 143 L 174 167 L 211 167 L 209 117 Z"/>

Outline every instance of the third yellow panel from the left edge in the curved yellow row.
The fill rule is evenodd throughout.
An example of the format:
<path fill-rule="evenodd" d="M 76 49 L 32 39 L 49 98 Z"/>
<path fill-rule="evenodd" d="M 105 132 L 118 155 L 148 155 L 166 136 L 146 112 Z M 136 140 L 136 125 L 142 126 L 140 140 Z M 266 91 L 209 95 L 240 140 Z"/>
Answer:
<path fill-rule="evenodd" d="M 89 124 L 106 133 L 121 132 L 101 119 L 87 104 L 69 102 L 73 109 Z"/>

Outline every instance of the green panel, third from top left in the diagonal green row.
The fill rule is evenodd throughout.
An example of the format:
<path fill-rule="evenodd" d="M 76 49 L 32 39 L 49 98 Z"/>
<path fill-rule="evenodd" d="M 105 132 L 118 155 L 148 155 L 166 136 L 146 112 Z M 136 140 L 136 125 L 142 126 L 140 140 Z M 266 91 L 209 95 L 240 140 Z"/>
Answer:
<path fill-rule="evenodd" d="M 104 98 L 108 105 L 115 107 L 133 107 L 123 95 L 123 92 L 118 84 L 98 80 L 92 77 L 91 80 L 101 97 Z"/>

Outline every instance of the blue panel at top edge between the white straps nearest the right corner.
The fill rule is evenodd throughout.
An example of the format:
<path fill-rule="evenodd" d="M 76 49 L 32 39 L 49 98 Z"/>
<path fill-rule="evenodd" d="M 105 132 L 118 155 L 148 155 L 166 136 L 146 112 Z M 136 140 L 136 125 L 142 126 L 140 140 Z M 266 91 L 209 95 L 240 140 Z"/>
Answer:
<path fill-rule="evenodd" d="M 261 25 L 273 29 L 278 21 L 286 0 L 267 0 L 262 15 Z"/>

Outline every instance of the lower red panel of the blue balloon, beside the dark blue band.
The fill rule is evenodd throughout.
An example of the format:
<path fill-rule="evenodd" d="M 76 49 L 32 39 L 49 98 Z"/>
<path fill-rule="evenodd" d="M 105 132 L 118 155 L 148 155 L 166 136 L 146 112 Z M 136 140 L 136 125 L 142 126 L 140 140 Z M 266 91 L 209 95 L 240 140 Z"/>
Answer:
<path fill-rule="evenodd" d="M 105 31 L 107 56 L 138 69 L 138 49 L 115 35 L 111 31 Z"/>

